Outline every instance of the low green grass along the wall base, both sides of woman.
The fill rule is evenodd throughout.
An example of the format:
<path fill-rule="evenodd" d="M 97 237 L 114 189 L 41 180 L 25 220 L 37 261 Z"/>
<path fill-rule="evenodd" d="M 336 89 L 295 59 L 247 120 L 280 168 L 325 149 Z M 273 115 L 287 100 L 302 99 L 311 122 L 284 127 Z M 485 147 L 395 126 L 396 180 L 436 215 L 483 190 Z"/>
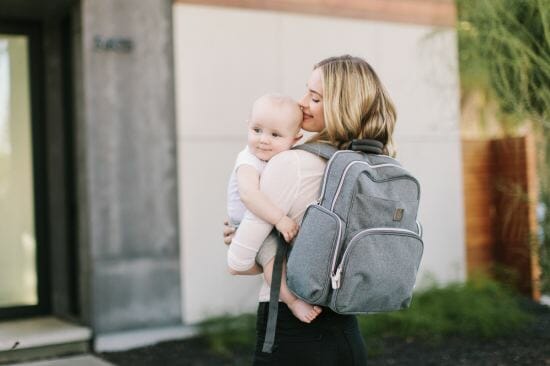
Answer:
<path fill-rule="evenodd" d="M 378 353 L 377 347 L 382 351 L 377 342 L 384 337 L 435 343 L 447 336 L 490 339 L 513 334 L 532 319 L 512 290 L 482 278 L 418 292 L 412 306 L 403 311 L 358 317 L 371 355 Z M 214 352 L 232 356 L 253 350 L 255 322 L 254 314 L 227 315 L 210 318 L 199 329 Z"/>

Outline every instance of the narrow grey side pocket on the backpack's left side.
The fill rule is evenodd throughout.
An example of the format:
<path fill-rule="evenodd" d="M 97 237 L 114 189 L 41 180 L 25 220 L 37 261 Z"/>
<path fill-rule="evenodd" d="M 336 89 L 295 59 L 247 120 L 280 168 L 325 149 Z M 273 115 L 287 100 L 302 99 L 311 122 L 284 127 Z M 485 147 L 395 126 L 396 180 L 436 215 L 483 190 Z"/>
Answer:
<path fill-rule="evenodd" d="M 288 288 L 310 304 L 328 305 L 332 258 L 342 236 L 342 221 L 320 205 L 307 208 L 287 263 Z"/>

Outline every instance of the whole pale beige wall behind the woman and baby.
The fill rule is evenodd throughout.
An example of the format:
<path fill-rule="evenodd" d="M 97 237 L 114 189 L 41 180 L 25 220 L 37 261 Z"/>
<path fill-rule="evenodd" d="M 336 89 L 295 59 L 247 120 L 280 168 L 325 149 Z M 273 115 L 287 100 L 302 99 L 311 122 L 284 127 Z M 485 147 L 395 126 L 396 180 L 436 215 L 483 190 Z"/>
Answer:
<path fill-rule="evenodd" d="M 377 70 L 398 110 L 398 158 L 422 183 L 421 282 L 465 275 L 456 34 L 451 28 L 174 5 L 183 314 L 252 310 L 258 278 L 226 273 L 225 189 L 252 101 L 299 98 L 312 65 L 350 53 Z"/>

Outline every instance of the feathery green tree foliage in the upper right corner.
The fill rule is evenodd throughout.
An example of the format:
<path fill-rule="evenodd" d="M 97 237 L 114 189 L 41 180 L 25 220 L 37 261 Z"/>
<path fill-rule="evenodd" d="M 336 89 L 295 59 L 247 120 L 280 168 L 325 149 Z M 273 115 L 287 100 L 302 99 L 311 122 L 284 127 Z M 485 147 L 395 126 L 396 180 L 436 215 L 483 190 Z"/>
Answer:
<path fill-rule="evenodd" d="M 550 1 L 457 0 L 457 8 L 463 86 L 550 127 Z"/>

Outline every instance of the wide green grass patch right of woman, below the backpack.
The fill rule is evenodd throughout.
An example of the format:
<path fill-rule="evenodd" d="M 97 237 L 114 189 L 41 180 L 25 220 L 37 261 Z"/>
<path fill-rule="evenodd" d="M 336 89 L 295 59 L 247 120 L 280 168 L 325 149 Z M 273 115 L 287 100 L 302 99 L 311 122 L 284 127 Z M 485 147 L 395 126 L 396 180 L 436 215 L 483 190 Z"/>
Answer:
<path fill-rule="evenodd" d="M 365 338 L 399 337 L 438 341 L 445 336 L 494 338 L 530 323 L 516 296 L 487 279 L 433 287 L 418 293 L 404 311 L 359 317 Z"/>

